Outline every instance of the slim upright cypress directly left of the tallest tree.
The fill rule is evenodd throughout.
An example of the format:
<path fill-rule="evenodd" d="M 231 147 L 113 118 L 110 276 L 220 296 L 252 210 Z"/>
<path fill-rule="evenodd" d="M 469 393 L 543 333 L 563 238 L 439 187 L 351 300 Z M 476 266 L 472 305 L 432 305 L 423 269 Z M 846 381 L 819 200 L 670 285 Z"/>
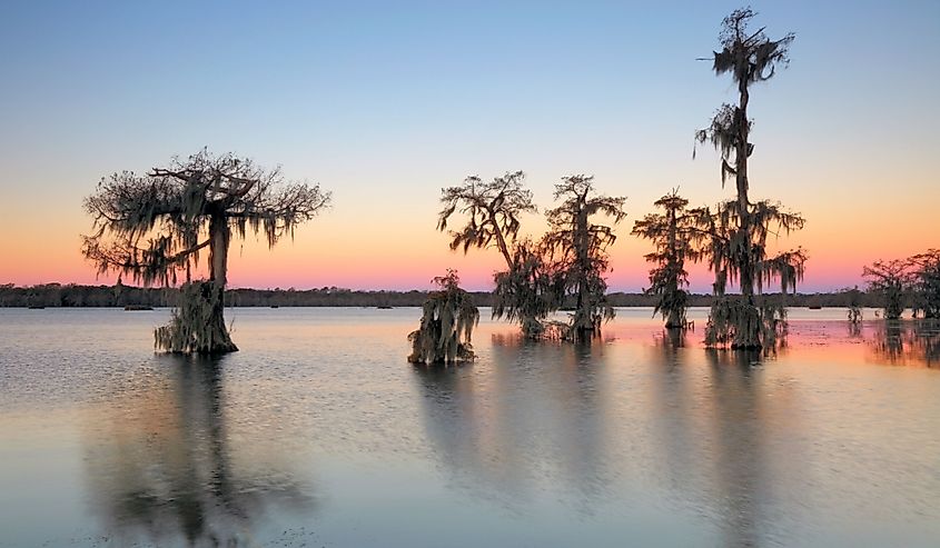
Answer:
<path fill-rule="evenodd" d="M 696 260 L 699 251 L 694 241 L 699 238 L 696 219 L 685 207 L 689 200 L 673 189 L 654 203 L 662 213 L 647 213 L 634 222 L 633 235 L 651 240 L 656 250 L 645 256 L 647 262 L 656 265 L 650 270 L 650 288 L 646 293 L 659 296 L 653 315 L 662 315 L 666 328 L 685 327 L 687 308 L 689 272 L 685 260 Z"/>

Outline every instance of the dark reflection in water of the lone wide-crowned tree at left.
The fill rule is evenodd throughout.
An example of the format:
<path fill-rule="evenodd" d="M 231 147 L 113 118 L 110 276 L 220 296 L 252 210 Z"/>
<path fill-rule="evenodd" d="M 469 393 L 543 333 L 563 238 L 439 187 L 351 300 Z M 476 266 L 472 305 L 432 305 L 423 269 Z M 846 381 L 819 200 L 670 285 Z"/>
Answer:
<path fill-rule="evenodd" d="M 289 474 L 236 466 L 224 360 L 158 356 L 156 378 L 135 379 L 89 425 L 92 502 L 119 545 L 251 545 L 271 507 L 313 510 L 309 489 Z"/>

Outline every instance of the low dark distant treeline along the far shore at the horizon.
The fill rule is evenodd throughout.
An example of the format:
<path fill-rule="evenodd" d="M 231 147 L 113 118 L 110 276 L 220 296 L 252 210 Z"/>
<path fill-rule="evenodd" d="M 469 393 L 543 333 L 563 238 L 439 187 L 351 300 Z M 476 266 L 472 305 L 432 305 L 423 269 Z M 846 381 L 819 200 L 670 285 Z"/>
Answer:
<path fill-rule="evenodd" d="M 226 292 L 227 305 L 234 307 L 419 307 L 428 291 L 354 291 L 336 287 L 320 289 L 231 289 Z M 479 307 L 493 303 L 487 291 L 472 292 Z M 172 307 L 176 288 L 140 288 L 132 286 L 79 286 L 75 283 L 46 283 L 31 287 L 0 286 L 0 307 Z M 607 296 L 614 307 L 652 307 L 656 296 L 614 292 Z M 765 299 L 780 299 L 768 293 Z M 689 305 L 709 307 L 711 295 L 691 295 Z M 791 307 L 848 307 L 849 296 L 835 293 L 798 293 L 786 297 Z M 863 307 L 880 307 L 878 295 L 861 293 Z M 573 305 L 573 303 L 572 303 Z"/>

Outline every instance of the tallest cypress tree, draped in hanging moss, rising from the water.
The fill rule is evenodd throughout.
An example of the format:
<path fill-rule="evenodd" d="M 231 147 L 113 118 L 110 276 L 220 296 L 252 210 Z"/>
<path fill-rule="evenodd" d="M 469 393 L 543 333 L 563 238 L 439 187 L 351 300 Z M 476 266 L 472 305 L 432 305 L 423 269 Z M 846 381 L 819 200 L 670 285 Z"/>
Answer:
<path fill-rule="evenodd" d="M 715 293 L 723 296 L 728 281 L 736 281 L 741 288 L 741 298 L 724 297 L 715 301 L 706 342 L 731 342 L 732 348 L 760 348 L 766 342 L 764 335 L 775 332 L 774 326 L 785 319 L 785 309 L 782 306 L 759 309 L 754 302 L 755 288 L 760 291 L 762 280 L 778 277 L 783 279 L 784 287 L 794 285 L 805 261 L 805 253 L 799 249 L 773 258 L 766 257 L 765 249 L 770 227 L 789 232 L 802 228 L 803 218 L 784 211 L 779 203 L 752 203 L 749 198 L 748 160 L 754 151 L 749 141 L 750 87 L 771 79 L 778 66 L 789 62 L 788 49 L 794 38 L 788 33 L 780 40 L 771 40 L 763 28 L 750 32 L 748 23 L 754 16 L 751 9 L 739 9 L 724 19 L 719 37 L 722 50 L 709 60 L 713 61 L 716 74 L 731 73 L 738 84 L 738 103 L 723 104 L 711 124 L 695 133 L 696 141 L 709 141 L 720 151 L 722 185 L 731 176 L 738 191 L 735 200 L 718 207 L 716 221 L 706 221 L 718 228 L 711 247 Z"/>

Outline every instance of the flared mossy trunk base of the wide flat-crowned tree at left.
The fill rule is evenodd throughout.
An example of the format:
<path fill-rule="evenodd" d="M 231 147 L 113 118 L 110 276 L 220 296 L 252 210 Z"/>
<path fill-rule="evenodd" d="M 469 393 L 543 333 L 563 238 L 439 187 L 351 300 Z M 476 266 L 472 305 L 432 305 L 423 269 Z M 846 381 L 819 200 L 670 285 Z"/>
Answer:
<path fill-rule="evenodd" d="M 170 322 L 154 331 L 157 350 L 174 353 L 238 351 L 225 327 L 221 287 L 211 280 L 184 283 L 179 299 Z"/>

